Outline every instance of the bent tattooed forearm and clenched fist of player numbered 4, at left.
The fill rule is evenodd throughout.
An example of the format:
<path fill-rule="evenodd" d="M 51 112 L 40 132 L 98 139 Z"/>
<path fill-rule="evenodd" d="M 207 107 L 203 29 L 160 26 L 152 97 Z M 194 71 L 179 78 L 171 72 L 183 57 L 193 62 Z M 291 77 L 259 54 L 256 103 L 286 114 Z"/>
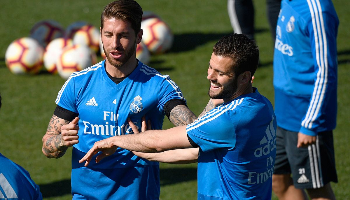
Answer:
<path fill-rule="evenodd" d="M 47 131 L 42 138 L 42 152 L 46 157 L 62 157 L 68 147 L 78 143 L 78 121 L 78 117 L 69 122 L 56 115 L 52 115 Z"/>

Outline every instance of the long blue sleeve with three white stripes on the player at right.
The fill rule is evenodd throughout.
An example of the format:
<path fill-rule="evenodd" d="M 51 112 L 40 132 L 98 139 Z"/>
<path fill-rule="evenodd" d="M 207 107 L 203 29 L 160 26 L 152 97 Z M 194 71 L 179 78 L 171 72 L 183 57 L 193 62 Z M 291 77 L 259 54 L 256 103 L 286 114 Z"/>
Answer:
<path fill-rule="evenodd" d="M 336 37 L 339 21 L 335 13 L 331 15 L 329 12 L 323 12 L 322 15 L 317 15 L 316 11 L 308 26 L 316 77 L 307 113 L 299 130 L 311 136 L 317 135 L 320 116 L 325 112 L 329 99 L 336 98 L 330 94 L 337 89 Z"/>

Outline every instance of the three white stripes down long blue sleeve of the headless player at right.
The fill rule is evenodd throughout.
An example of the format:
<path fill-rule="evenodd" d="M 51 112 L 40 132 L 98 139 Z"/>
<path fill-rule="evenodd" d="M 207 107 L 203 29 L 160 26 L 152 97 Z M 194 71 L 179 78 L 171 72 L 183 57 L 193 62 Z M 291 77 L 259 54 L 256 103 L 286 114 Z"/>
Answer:
<path fill-rule="evenodd" d="M 325 88 L 328 82 L 328 59 L 327 59 L 327 38 L 325 36 L 324 22 L 322 16 L 322 8 L 319 0 L 307 0 L 311 19 L 314 28 L 314 37 L 316 45 L 316 61 L 318 65 L 317 79 L 310 106 L 308 108 L 305 119 L 301 125 L 310 129 L 315 121 L 322 102 L 324 100 Z"/>

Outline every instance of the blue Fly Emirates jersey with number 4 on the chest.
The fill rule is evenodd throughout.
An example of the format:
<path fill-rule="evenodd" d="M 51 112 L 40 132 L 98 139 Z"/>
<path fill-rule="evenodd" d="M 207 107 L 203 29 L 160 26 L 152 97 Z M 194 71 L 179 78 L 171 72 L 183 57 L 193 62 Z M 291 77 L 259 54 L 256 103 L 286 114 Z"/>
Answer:
<path fill-rule="evenodd" d="M 131 151 L 116 153 L 92 162 L 78 163 L 94 142 L 131 134 L 127 118 L 141 129 L 141 117 L 162 129 L 165 103 L 186 102 L 168 75 L 139 62 L 121 83 L 114 83 L 105 70 L 105 60 L 74 72 L 59 91 L 56 103 L 79 114 L 79 143 L 72 152 L 72 193 L 87 199 L 159 199 L 159 163 L 141 159 Z M 116 178 L 118 177 L 118 178 Z M 126 181 L 127 180 L 127 181 Z"/>

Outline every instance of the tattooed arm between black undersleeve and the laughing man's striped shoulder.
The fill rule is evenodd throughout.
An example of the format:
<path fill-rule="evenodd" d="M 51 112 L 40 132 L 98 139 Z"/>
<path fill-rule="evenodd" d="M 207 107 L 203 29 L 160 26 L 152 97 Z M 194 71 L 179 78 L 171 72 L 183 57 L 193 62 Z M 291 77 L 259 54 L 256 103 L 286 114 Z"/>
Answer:
<path fill-rule="evenodd" d="M 175 126 L 183 126 L 194 122 L 196 115 L 185 105 L 178 105 L 170 112 L 170 121 Z"/>

